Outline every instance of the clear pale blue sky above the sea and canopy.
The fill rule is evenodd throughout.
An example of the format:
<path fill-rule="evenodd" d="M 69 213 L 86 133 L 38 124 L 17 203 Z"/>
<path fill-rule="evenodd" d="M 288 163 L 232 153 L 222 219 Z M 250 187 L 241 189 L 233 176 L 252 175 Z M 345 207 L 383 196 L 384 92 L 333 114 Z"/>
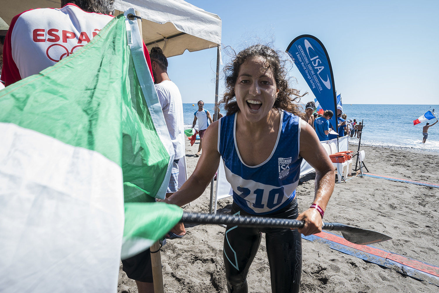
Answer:
<path fill-rule="evenodd" d="M 235 50 L 271 41 L 284 51 L 296 36 L 316 36 L 344 104 L 439 104 L 439 1 L 187 2 L 218 14 L 223 46 Z M 223 52 L 222 59 L 230 56 Z M 215 70 L 215 48 L 169 58 L 168 73 L 184 103 L 214 102 Z M 293 87 L 311 93 L 299 70 L 290 75 L 297 78 Z"/>

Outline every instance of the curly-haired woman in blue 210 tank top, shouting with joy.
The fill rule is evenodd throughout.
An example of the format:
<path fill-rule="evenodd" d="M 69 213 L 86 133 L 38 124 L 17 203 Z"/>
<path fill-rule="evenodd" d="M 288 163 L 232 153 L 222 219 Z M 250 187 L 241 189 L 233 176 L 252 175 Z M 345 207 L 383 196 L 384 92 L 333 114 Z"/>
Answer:
<path fill-rule="evenodd" d="M 229 292 L 247 292 L 247 274 L 262 233 L 273 292 L 299 292 L 302 272 L 301 233 L 322 228 L 324 210 L 334 190 L 334 167 L 313 128 L 299 115 L 297 90 L 289 87 L 280 54 L 265 45 L 239 52 L 226 65 L 226 116 L 205 132 L 204 154 L 194 173 L 166 203 L 183 206 L 197 199 L 223 159 L 233 188 L 232 214 L 305 221 L 300 229 L 227 226 L 224 266 Z M 302 159 L 316 170 L 315 195 L 299 214 L 296 187 Z"/>

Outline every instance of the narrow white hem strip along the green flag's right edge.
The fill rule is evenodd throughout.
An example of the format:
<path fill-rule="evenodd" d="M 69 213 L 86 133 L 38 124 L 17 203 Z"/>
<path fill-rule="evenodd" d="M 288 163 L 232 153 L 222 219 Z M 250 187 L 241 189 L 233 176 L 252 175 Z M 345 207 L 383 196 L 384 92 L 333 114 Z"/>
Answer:
<path fill-rule="evenodd" d="M 125 11 L 123 15 L 128 14 L 136 15 L 134 8 L 129 8 Z M 163 180 L 162 185 L 158 189 L 157 195 L 158 199 L 164 199 L 166 195 L 166 190 L 168 189 L 169 178 L 171 177 L 172 165 L 174 161 L 174 146 L 169 136 L 168 127 L 166 126 L 165 117 L 162 112 L 162 105 L 158 101 L 157 91 L 155 90 L 154 81 L 148 69 L 148 64 L 146 63 L 144 51 L 143 51 L 143 40 L 140 37 L 140 30 L 137 24 L 137 19 L 130 20 L 126 17 L 125 20 L 126 31 L 131 32 L 131 43 L 129 43 L 131 54 L 133 55 L 134 67 L 136 68 L 137 79 L 139 80 L 140 87 L 142 88 L 143 95 L 145 97 L 146 104 L 148 105 L 148 110 L 151 114 L 151 119 L 154 122 L 155 130 L 157 131 L 158 137 L 162 141 L 166 150 L 169 153 L 169 163 L 168 169 L 166 171 L 165 180 Z"/>

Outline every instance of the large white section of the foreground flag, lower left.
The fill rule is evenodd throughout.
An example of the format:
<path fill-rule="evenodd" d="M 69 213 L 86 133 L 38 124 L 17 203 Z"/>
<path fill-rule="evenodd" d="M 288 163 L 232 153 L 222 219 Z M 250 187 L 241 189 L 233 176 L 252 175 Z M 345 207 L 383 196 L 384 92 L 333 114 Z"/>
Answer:
<path fill-rule="evenodd" d="M 12 123 L 0 123 L 0 137 L 0 288 L 116 292 L 121 168 Z"/>

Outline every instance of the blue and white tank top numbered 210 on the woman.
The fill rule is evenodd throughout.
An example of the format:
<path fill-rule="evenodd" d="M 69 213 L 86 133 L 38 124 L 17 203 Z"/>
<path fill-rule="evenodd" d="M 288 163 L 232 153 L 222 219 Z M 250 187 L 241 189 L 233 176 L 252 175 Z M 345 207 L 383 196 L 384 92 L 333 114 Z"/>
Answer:
<path fill-rule="evenodd" d="M 234 202 L 252 214 L 268 214 L 288 205 L 296 195 L 300 164 L 300 118 L 281 111 L 277 141 L 268 159 L 257 166 L 246 165 L 235 141 L 236 113 L 219 119 L 218 152 L 224 161 Z"/>

